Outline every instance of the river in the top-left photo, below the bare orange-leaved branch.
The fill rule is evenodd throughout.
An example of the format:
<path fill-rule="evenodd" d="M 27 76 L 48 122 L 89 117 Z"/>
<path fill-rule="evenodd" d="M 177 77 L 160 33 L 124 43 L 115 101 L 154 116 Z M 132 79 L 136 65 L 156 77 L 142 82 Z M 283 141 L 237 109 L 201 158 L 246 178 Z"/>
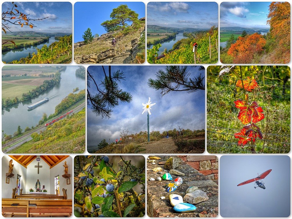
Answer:
<path fill-rule="evenodd" d="M 44 45 L 51 45 L 53 42 L 58 41 L 55 39 L 55 37 L 50 37 L 49 41 L 39 44 L 37 46 L 30 46 L 20 49 L 13 49 L 10 51 L 6 51 L 2 53 L 2 62 L 12 62 L 13 60 L 20 60 L 20 58 L 27 57 L 28 54 L 36 53 L 36 47 L 38 49 L 42 48 Z"/>

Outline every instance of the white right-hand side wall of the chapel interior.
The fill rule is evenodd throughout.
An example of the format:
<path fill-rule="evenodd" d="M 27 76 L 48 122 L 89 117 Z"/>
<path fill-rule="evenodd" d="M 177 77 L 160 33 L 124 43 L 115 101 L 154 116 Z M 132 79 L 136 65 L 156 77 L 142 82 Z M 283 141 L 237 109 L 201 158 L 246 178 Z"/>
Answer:
<path fill-rule="evenodd" d="M 67 179 L 63 178 L 62 175 L 64 174 L 64 162 L 67 162 L 68 165 L 68 174 L 71 174 L 70 177 L 70 184 L 67 185 Z M 63 195 L 62 189 L 67 189 L 67 197 L 68 199 L 72 199 L 72 183 L 73 183 L 73 177 L 72 177 L 72 158 L 69 156 L 65 160 L 61 161 L 59 164 L 51 168 L 50 170 L 50 194 L 55 194 L 55 176 L 60 176 L 60 195 Z"/>

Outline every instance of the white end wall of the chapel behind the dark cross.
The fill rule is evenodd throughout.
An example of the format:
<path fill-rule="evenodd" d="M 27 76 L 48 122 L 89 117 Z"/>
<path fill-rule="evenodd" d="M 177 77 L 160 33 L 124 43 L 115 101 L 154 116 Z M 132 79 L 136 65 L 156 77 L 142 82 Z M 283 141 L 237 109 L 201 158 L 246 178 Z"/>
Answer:
<path fill-rule="evenodd" d="M 54 194 L 54 190 L 50 191 L 50 166 L 41 158 L 39 161 L 39 165 L 43 166 L 39 168 L 39 174 L 37 174 L 37 165 L 36 159 L 34 159 L 28 166 L 27 166 L 27 183 L 26 183 L 26 192 L 22 193 L 29 193 L 29 189 L 32 188 L 34 192 L 36 191 L 35 185 L 36 181 L 39 179 L 41 183 L 41 189 L 43 185 L 45 185 L 45 189 L 48 191 L 48 194 Z M 24 188 L 24 187 L 23 187 Z"/>

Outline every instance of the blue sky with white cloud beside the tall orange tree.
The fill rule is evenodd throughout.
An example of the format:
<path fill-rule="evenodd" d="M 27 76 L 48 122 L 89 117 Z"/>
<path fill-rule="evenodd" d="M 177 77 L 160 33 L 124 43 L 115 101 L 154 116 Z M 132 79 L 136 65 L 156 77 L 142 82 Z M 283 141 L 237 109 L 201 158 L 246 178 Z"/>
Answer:
<path fill-rule="evenodd" d="M 267 25 L 271 2 L 222 2 L 220 4 L 220 27 L 259 27 Z"/>

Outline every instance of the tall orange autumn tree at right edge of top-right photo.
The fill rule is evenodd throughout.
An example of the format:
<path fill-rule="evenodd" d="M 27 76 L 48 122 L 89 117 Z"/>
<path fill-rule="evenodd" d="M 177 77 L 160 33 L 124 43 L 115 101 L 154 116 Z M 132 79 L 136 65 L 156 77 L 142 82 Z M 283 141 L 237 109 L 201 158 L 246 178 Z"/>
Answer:
<path fill-rule="evenodd" d="M 277 43 L 277 53 L 280 57 L 288 55 L 290 61 L 290 4 L 288 2 L 272 2 L 269 6 L 267 24 Z"/>

